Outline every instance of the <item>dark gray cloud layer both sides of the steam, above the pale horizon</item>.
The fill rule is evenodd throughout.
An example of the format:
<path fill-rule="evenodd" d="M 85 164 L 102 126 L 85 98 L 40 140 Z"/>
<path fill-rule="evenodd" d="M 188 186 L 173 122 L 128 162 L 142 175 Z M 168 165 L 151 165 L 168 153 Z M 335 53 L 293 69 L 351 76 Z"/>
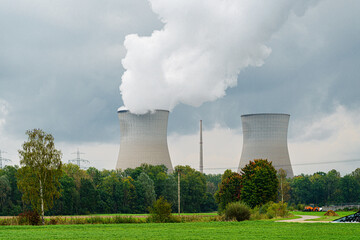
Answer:
<path fill-rule="evenodd" d="M 240 129 L 245 113 L 285 112 L 301 122 L 335 111 L 336 103 L 359 108 L 359 9 L 355 0 L 328 0 L 290 16 L 267 43 L 272 53 L 262 67 L 243 70 L 220 100 L 178 105 L 170 133 L 194 133 L 199 119 L 208 129 Z M 145 0 L 1 1 L 5 134 L 21 139 L 40 127 L 61 141 L 118 142 L 124 37 L 162 26 Z M 292 137 L 301 131 L 290 126 Z"/>

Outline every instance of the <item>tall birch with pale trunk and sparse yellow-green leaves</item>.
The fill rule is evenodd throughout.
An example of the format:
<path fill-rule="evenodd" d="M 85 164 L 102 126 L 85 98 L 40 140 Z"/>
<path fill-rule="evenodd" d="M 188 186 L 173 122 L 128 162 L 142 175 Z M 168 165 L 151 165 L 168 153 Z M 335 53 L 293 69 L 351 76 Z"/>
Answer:
<path fill-rule="evenodd" d="M 55 148 L 51 134 L 41 129 L 28 130 L 26 134 L 28 140 L 19 150 L 21 168 L 17 184 L 23 192 L 23 201 L 31 204 L 45 224 L 45 211 L 60 197 L 61 152 Z"/>

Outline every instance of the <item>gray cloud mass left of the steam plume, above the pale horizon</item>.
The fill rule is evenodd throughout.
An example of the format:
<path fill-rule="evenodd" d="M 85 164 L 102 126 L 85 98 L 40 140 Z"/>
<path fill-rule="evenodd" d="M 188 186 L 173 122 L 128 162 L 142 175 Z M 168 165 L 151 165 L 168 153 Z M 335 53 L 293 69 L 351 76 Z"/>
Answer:
<path fill-rule="evenodd" d="M 146 0 L 2 1 L 0 98 L 10 106 L 4 131 L 117 139 L 124 37 L 161 25 Z"/>

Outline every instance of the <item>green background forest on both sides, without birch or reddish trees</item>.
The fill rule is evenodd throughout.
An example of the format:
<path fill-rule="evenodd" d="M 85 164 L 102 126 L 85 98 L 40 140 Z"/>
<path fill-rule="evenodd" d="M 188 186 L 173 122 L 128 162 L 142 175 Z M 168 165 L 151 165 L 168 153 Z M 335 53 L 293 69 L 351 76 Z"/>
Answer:
<path fill-rule="evenodd" d="M 18 166 L 0 169 L 0 215 L 15 216 L 30 208 L 23 203 L 17 187 Z M 64 164 L 60 178 L 61 197 L 46 215 L 107 213 L 147 213 L 153 202 L 163 196 L 177 212 L 178 172 L 180 173 L 181 212 L 218 210 L 215 195 L 222 174 L 203 174 L 190 166 L 177 166 L 168 173 L 163 165 L 142 165 L 135 169 L 80 169 Z M 229 171 L 229 170 L 227 170 Z M 278 174 L 278 201 L 289 206 L 319 206 L 359 203 L 360 168 L 341 176 L 336 170 L 286 178 Z"/>

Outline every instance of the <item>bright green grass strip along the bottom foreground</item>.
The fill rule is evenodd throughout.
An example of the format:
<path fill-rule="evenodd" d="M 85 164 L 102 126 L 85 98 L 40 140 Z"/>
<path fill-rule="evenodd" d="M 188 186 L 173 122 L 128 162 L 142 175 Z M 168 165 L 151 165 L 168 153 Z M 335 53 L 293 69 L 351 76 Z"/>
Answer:
<path fill-rule="evenodd" d="M 357 224 L 270 221 L 1 226 L 0 239 L 359 239 Z"/>

